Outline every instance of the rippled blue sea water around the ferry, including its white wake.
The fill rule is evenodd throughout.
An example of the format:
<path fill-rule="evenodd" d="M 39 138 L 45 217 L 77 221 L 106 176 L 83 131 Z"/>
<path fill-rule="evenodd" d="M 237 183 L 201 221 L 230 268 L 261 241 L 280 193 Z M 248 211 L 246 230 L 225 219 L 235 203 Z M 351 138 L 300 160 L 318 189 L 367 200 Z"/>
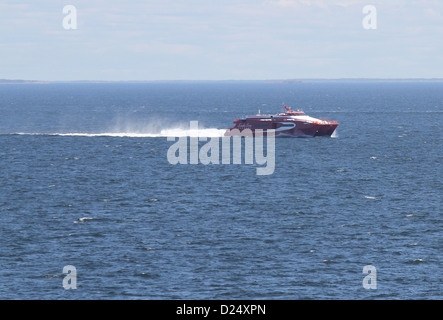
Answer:
<path fill-rule="evenodd" d="M 336 134 L 169 163 L 283 103 Z M 1 85 L 0 298 L 441 299 L 442 111 L 436 81 Z"/>

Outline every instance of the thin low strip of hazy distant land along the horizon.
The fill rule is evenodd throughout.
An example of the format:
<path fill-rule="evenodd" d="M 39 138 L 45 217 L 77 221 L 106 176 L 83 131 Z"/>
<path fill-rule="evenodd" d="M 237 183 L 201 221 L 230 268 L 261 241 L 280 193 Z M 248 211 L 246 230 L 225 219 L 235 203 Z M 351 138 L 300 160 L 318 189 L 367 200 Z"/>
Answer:
<path fill-rule="evenodd" d="M 264 79 L 264 80 L 22 80 L 22 79 L 0 79 L 0 84 L 51 84 L 51 83 L 152 83 L 152 82 L 180 82 L 180 83 L 197 83 L 197 82 L 264 82 L 264 83 L 301 83 L 301 82 L 442 82 L 443 78 L 300 78 L 300 79 Z"/>

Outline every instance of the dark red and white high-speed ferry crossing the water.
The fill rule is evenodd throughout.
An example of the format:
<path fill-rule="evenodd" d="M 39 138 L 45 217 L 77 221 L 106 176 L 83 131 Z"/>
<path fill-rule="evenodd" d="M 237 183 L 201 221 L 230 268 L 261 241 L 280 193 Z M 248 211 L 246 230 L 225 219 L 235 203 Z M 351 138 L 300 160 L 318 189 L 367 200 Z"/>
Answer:
<path fill-rule="evenodd" d="M 263 130 L 266 135 L 267 130 L 273 130 L 276 136 L 331 136 L 338 126 L 337 121 L 317 119 L 306 115 L 303 111 L 292 111 L 287 106 L 286 112 L 275 115 L 246 116 L 242 119 L 235 119 L 234 126 L 227 129 L 225 136 L 255 135 L 255 130 Z M 243 132 L 244 130 L 247 132 Z"/>

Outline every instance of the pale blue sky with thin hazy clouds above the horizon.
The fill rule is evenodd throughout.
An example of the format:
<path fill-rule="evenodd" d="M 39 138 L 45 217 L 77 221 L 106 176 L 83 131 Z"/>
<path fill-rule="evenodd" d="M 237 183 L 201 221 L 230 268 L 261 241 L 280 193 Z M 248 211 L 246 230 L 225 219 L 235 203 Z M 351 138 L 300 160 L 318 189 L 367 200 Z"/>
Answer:
<path fill-rule="evenodd" d="M 0 0 L 0 79 L 443 78 L 442 52 L 441 0 Z"/>

